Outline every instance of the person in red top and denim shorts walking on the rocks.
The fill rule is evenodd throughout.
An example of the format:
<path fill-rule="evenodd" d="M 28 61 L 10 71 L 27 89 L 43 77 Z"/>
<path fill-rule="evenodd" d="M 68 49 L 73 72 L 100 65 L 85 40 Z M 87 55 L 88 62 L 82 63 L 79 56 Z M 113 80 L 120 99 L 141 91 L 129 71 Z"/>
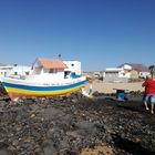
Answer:
<path fill-rule="evenodd" d="M 145 99 L 144 104 L 146 110 L 148 108 L 148 103 L 151 102 L 151 113 L 154 114 L 154 104 L 155 104 L 155 80 L 151 76 L 147 76 L 142 86 L 145 86 Z"/>

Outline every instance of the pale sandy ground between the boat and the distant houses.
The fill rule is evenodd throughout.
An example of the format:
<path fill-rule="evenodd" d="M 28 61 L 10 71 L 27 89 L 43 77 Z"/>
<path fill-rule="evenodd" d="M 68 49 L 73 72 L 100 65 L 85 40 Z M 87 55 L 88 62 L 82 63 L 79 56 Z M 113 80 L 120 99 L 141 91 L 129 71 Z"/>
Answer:
<path fill-rule="evenodd" d="M 90 90 L 90 83 L 85 84 L 85 91 L 89 92 Z M 93 92 L 97 91 L 100 93 L 115 93 L 115 89 L 126 90 L 126 92 L 131 91 L 144 91 L 144 87 L 142 87 L 142 82 L 135 82 L 135 83 L 105 83 L 102 81 L 93 81 L 92 83 L 92 90 Z"/>

